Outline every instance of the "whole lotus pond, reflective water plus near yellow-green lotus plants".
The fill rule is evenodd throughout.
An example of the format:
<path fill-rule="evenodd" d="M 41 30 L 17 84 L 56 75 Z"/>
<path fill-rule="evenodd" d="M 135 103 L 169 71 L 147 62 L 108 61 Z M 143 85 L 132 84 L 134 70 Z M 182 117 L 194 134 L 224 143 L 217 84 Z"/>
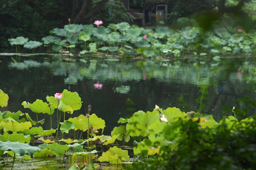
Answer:
<path fill-rule="evenodd" d="M 236 106 L 236 112 L 254 113 L 251 57 L 2 54 L 0 61 L 0 151 L 6 169 L 129 169 L 161 154 L 155 143 L 168 142 L 159 134 L 179 119 L 192 118 L 200 128 L 253 120 L 239 115 L 238 121 L 232 112 Z"/>

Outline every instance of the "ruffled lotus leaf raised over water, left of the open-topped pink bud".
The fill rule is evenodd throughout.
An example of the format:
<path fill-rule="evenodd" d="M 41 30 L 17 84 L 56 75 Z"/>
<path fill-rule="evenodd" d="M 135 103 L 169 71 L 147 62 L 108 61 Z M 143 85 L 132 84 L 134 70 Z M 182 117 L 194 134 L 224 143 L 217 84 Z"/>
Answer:
<path fill-rule="evenodd" d="M 30 110 L 32 110 L 35 113 L 48 113 L 48 114 L 53 114 L 54 112 L 54 107 L 48 107 L 48 104 L 46 102 L 43 102 L 42 100 L 36 99 L 36 101 L 32 104 L 30 104 L 29 102 L 22 102 L 22 105 L 24 106 L 24 108 L 29 108 Z"/>

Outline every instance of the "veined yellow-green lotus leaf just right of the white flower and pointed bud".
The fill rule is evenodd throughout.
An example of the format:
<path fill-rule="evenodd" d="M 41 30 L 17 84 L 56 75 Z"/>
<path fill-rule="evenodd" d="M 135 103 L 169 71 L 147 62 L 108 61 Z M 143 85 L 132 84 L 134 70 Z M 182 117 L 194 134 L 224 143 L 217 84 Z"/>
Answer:
<path fill-rule="evenodd" d="M 167 108 L 166 110 L 161 111 L 164 117 L 167 119 L 168 123 L 173 123 L 180 118 L 186 117 L 186 113 L 180 111 L 178 108 Z"/>

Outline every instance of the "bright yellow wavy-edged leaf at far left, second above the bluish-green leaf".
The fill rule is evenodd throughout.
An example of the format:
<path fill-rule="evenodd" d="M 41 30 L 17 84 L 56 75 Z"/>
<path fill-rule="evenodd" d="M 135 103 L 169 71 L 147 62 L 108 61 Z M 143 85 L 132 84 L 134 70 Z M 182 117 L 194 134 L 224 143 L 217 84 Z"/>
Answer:
<path fill-rule="evenodd" d="M 8 131 L 19 132 L 32 127 L 32 124 L 30 122 L 19 123 L 19 124 L 12 123 L 12 122 L 8 122 L 8 123 L 1 122 L 0 125 L 4 127 L 4 132 L 8 132 Z"/>

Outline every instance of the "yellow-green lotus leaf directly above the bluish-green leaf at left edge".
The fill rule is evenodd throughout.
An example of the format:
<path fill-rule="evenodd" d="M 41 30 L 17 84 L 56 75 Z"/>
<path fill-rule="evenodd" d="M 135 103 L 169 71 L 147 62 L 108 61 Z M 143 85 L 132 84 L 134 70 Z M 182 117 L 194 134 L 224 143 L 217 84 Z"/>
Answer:
<path fill-rule="evenodd" d="M 17 132 L 13 132 L 13 134 L 8 134 L 7 132 L 4 132 L 3 135 L 0 135 L 0 141 L 6 142 L 9 140 L 10 142 L 19 142 L 19 143 L 29 143 L 30 142 L 30 136 L 24 136 L 23 134 L 19 134 Z"/>

